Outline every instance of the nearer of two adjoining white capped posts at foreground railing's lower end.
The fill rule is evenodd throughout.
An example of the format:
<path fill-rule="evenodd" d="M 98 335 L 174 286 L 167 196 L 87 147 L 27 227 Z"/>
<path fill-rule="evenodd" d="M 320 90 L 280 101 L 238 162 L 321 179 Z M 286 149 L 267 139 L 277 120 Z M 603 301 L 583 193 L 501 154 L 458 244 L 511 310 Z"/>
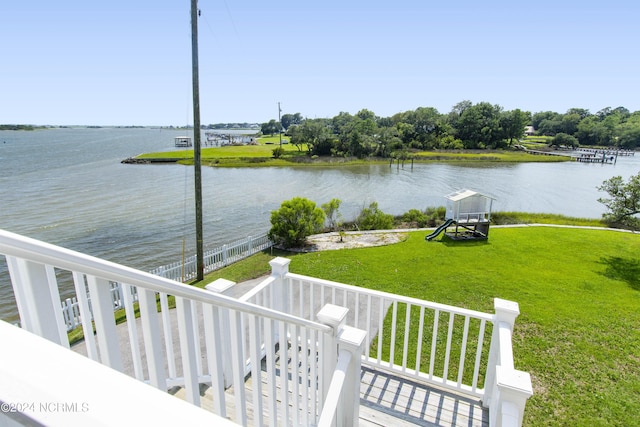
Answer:
<path fill-rule="evenodd" d="M 347 368 L 342 390 L 342 413 L 338 425 L 356 426 L 360 418 L 360 371 L 362 353 L 367 340 L 367 332 L 350 326 L 341 326 L 338 332 L 338 354 L 347 351 L 351 360 Z"/>

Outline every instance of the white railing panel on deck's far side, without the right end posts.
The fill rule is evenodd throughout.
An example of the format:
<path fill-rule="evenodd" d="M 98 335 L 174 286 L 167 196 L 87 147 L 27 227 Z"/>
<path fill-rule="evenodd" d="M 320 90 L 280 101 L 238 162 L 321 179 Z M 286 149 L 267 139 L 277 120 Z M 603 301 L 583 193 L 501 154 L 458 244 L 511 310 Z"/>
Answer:
<path fill-rule="evenodd" d="M 364 364 L 484 395 L 493 315 L 295 273 L 284 277 L 285 304 L 271 304 L 279 299 L 273 299 L 268 284 L 247 297 L 305 319 L 325 304 L 347 307 L 346 324 L 369 334 Z M 417 343 L 415 349 L 411 343 Z"/>

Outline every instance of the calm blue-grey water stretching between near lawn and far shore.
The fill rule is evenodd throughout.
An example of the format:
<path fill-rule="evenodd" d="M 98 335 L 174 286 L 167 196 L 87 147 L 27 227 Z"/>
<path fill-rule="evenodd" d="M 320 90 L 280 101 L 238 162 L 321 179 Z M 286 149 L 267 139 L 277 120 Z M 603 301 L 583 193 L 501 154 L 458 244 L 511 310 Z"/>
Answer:
<path fill-rule="evenodd" d="M 0 131 L 0 228 L 150 270 L 194 248 L 193 168 L 123 165 L 142 152 L 173 149 L 184 131 L 52 129 Z M 377 201 L 391 214 L 444 205 L 471 188 L 496 198 L 494 210 L 599 217 L 605 179 L 640 171 L 640 155 L 616 165 L 394 165 L 341 168 L 203 168 L 205 247 L 259 234 L 283 200 L 342 200 L 353 219 Z M 63 292 L 64 294 L 64 292 Z M 14 320 L 13 291 L 0 262 L 0 318 Z"/>

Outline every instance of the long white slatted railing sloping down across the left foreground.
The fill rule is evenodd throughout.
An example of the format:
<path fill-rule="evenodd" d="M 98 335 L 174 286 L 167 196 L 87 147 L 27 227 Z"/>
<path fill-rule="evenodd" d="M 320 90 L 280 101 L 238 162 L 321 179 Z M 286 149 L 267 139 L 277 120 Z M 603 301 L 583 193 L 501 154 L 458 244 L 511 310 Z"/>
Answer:
<path fill-rule="evenodd" d="M 185 400 L 195 405 L 201 403 L 200 385 L 210 384 L 213 412 L 241 425 L 250 418 L 255 425 L 313 425 L 322 416 L 341 351 L 340 322 L 298 318 L 3 230 L 0 254 L 24 329 L 69 347 L 56 277 L 68 271 L 90 359 L 162 391 L 182 387 Z M 274 270 L 274 289 L 284 289 Z M 123 288 L 126 327 L 115 323 L 112 282 Z M 176 309 L 169 310 L 173 303 Z M 251 381 L 245 381 L 247 373 Z M 349 375 L 359 378 L 355 370 Z M 356 409 L 340 409 L 336 423 L 353 425 L 348 416 L 357 417 L 358 392 L 345 390 L 341 408 Z"/>

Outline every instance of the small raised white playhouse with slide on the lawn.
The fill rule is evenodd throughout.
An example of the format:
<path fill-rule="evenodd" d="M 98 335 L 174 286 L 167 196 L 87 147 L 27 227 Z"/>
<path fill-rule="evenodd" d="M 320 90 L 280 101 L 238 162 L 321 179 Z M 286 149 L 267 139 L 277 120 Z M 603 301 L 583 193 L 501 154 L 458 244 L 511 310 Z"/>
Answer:
<path fill-rule="evenodd" d="M 459 190 L 445 196 L 445 221 L 425 237 L 430 241 L 444 232 L 452 240 L 487 240 L 493 198 L 472 190 Z"/>

